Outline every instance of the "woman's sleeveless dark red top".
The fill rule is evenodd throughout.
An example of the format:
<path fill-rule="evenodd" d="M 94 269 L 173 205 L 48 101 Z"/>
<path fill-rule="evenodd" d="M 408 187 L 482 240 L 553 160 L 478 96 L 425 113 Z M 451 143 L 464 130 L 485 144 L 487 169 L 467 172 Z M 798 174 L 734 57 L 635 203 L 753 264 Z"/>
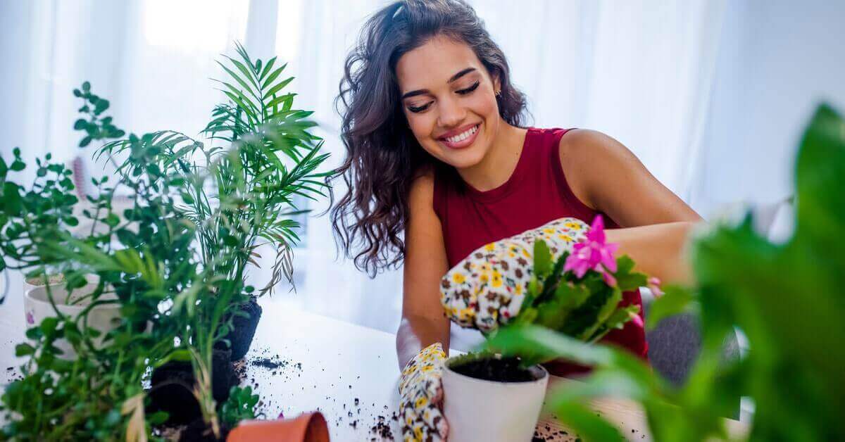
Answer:
<path fill-rule="evenodd" d="M 570 129 L 528 128 L 516 168 L 508 181 L 485 192 L 464 183 L 454 169 L 439 168 L 434 179 L 434 212 L 443 227 L 449 266 L 452 267 L 484 244 L 571 216 L 591 224 L 596 210 L 581 203 L 566 183 L 560 166 L 560 138 Z M 602 215 L 604 216 L 604 215 Z M 608 228 L 619 227 L 604 216 Z M 639 290 L 625 292 L 620 305 L 637 304 Z M 602 342 L 614 343 L 647 359 L 645 331 L 629 321 Z M 586 368 L 556 363 L 556 374 L 578 373 Z"/>

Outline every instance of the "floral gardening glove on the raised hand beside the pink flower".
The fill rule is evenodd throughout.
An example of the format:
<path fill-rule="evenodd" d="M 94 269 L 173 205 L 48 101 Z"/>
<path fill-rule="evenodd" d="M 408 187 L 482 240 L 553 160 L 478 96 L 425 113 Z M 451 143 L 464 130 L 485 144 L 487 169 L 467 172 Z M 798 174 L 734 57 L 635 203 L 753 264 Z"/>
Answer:
<path fill-rule="evenodd" d="M 446 316 L 465 328 L 487 332 L 520 313 L 531 281 L 534 239 L 542 239 L 557 260 L 586 238 L 589 226 L 559 218 L 543 226 L 477 248 L 440 281 Z"/>

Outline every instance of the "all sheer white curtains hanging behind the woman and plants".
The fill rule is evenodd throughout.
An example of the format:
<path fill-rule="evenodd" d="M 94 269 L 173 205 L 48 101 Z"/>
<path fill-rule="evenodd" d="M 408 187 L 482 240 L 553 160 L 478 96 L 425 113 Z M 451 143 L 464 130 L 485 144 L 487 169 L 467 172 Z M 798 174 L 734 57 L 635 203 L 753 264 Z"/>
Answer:
<path fill-rule="evenodd" d="M 215 59 L 243 41 L 259 57 L 290 62 L 296 105 L 314 110 L 337 166 L 343 146 L 334 99 L 360 26 L 385 0 L 0 0 L 2 150 L 52 151 L 69 160 L 79 136 L 70 91 L 90 79 L 112 115 L 135 132 L 197 134 L 220 96 Z M 594 128 L 619 139 L 682 198 L 690 192 L 725 0 L 472 1 L 529 96 L 537 127 Z M 4 32 L 6 32 L 4 30 Z M 14 88 L 7 89 L 8 82 Z M 340 194 L 343 188 L 335 188 Z M 326 209 L 314 205 L 315 212 Z M 296 303 L 395 330 L 401 270 L 375 280 L 335 260 L 327 216 L 308 221 L 297 251 Z M 260 275 L 259 275 L 260 276 Z M 291 301 L 292 300 L 292 301 Z"/>

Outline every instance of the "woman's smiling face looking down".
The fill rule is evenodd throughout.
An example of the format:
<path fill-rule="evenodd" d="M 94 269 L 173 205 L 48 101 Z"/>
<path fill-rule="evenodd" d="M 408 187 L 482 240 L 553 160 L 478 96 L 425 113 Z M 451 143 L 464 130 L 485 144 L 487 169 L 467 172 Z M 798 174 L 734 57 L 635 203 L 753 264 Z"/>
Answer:
<path fill-rule="evenodd" d="M 396 63 L 402 111 L 423 149 L 462 169 L 482 161 L 504 120 L 493 79 L 465 43 L 436 36 Z"/>

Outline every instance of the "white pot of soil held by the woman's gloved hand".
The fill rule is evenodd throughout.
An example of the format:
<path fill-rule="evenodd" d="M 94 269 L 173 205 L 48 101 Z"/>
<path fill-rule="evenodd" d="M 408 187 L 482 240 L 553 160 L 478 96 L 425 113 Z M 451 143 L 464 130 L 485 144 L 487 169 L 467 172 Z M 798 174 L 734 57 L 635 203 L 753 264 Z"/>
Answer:
<path fill-rule="evenodd" d="M 546 369 L 528 368 L 535 380 L 496 382 L 459 374 L 450 368 L 452 360 L 446 361 L 443 370 L 449 441 L 530 441 L 546 396 Z"/>

